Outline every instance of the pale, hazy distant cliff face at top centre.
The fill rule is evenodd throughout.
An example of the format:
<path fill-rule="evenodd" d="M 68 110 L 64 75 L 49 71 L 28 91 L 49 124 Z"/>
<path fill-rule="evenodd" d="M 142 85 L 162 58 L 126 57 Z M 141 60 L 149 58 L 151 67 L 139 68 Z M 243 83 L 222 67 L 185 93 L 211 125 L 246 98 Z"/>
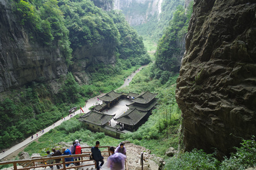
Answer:
<path fill-rule="evenodd" d="M 114 0 L 114 9 L 123 10 L 131 26 L 146 23 L 148 17 L 161 13 L 163 0 Z"/>

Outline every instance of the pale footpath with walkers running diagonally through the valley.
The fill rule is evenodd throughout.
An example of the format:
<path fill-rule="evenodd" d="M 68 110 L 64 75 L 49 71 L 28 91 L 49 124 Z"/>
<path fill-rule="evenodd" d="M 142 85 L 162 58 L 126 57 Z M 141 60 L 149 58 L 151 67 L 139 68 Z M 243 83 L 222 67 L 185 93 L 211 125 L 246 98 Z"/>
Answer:
<path fill-rule="evenodd" d="M 141 70 L 141 69 L 142 69 L 143 67 L 145 67 L 145 66 L 146 66 L 146 65 L 141 66 L 141 67 L 139 68 L 139 70 Z M 127 78 L 124 80 L 123 85 L 122 85 L 121 87 L 119 87 L 119 88 L 128 86 L 129 83 L 132 81 L 133 77 L 139 72 L 139 70 L 136 70 L 136 71 L 133 72 L 129 77 L 127 77 Z M 117 88 L 117 89 L 119 89 L 119 88 Z M 82 107 L 82 110 L 84 111 L 84 113 L 88 113 L 88 112 L 90 111 L 90 110 L 89 110 L 90 107 L 92 107 L 92 106 L 94 106 L 94 105 L 97 105 L 97 104 L 102 104 L 102 101 L 98 101 L 98 100 L 97 100 L 97 97 L 101 97 L 101 96 L 103 96 L 104 94 L 105 94 L 105 93 L 102 93 L 102 94 L 100 94 L 100 95 L 98 95 L 98 96 L 95 96 L 94 98 L 89 99 L 89 100 L 87 101 L 87 103 L 86 103 L 86 107 Z M 75 111 L 75 113 L 73 114 L 73 116 L 75 116 L 75 115 L 77 115 L 77 114 L 80 114 L 80 113 L 81 113 L 81 110 L 78 109 L 77 111 Z M 34 134 L 34 135 L 33 135 L 33 139 L 31 139 L 31 137 L 29 137 L 29 138 L 25 139 L 24 141 L 22 141 L 22 142 L 20 142 L 20 143 L 18 143 L 18 144 L 16 144 L 16 145 L 14 145 L 12 148 L 6 150 L 4 153 L 2 152 L 2 153 L 0 154 L 0 160 L 3 159 L 3 158 L 5 158 L 6 156 L 12 154 L 13 152 L 19 150 L 20 148 L 25 147 L 25 146 L 26 146 L 27 144 L 29 144 L 30 142 L 36 140 L 37 138 L 39 138 L 39 137 L 42 136 L 43 134 L 49 132 L 51 129 L 53 129 L 53 128 L 59 126 L 62 122 L 67 121 L 67 120 L 69 120 L 69 119 L 70 119 L 70 116 L 63 117 L 63 119 L 60 119 L 60 120 L 58 120 L 58 122 L 55 122 L 54 125 L 45 128 L 45 129 L 44 129 L 44 133 L 42 133 L 42 132 L 40 132 L 40 131 L 37 132 L 36 134 L 38 134 L 38 137 L 36 137 L 36 134 Z"/>

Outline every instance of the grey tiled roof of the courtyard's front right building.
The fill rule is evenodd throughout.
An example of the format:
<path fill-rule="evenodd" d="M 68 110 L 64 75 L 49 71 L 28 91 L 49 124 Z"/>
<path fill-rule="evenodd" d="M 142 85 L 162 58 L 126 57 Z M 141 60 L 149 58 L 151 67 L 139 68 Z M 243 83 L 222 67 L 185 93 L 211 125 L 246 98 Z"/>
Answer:
<path fill-rule="evenodd" d="M 120 117 L 114 118 L 116 122 L 126 125 L 136 125 L 146 115 L 147 112 L 139 111 L 137 109 L 129 109 Z"/>

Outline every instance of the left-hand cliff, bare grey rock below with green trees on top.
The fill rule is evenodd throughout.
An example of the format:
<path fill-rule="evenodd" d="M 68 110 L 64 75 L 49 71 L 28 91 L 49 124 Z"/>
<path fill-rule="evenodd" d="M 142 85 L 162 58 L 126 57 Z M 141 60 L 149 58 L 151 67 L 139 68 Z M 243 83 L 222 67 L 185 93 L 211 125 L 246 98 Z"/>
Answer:
<path fill-rule="evenodd" d="M 89 65 L 115 63 L 119 35 L 108 15 L 90 1 L 82 1 L 79 8 L 72 2 L 59 1 L 60 7 L 51 3 L 0 1 L 0 92 L 55 80 L 68 70 L 77 81 L 88 83 L 84 71 Z"/>

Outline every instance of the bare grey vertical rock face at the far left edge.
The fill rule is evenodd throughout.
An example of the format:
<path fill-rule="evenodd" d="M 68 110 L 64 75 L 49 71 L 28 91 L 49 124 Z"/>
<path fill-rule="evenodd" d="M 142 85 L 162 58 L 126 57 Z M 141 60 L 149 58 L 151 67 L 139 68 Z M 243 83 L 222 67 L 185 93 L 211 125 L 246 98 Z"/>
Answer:
<path fill-rule="evenodd" d="M 58 48 L 29 40 L 7 0 L 0 0 L 0 92 L 32 81 L 52 80 L 68 67 Z"/>

